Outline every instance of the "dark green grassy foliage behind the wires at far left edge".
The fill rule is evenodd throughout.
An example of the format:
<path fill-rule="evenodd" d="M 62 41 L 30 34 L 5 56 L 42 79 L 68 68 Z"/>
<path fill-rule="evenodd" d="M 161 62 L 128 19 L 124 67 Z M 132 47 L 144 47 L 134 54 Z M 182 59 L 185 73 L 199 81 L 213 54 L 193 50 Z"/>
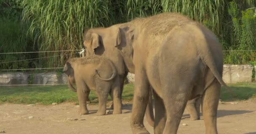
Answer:
<path fill-rule="evenodd" d="M 27 34 L 28 26 L 20 21 L 0 19 L 0 53 L 32 51 L 32 40 Z M 28 68 L 31 61 L 10 62 L 30 59 L 30 54 L 0 54 L 1 69 Z M 7 63 L 1 63 L 7 62 Z"/>

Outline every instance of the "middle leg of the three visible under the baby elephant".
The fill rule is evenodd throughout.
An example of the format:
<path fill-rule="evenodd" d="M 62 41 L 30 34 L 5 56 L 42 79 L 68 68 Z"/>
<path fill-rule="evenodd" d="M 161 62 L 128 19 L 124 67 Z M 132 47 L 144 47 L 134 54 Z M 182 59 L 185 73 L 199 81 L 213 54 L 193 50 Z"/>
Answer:
<path fill-rule="evenodd" d="M 97 116 L 106 114 L 107 97 L 108 97 L 109 90 L 103 90 L 103 89 L 102 88 L 96 89 L 96 92 L 97 92 L 98 98 L 99 98 L 99 108 L 96 113 Z"/>

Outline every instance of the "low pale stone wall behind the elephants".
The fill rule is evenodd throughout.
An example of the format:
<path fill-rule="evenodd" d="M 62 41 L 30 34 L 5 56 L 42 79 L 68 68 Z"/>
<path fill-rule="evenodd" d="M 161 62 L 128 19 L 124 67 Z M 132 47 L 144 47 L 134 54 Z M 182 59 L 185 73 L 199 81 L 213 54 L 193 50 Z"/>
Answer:
<path fill-rule="evenodd" d="M 256 68 L 256 66 L 255 66 Z M 224 64 L 223 80 L 226 83 L 251 82 L 253 66 Z M 128 82 L 134 83 L 135 75 L 128 73 Z M 20 84 L 67 84 L 67 75 L 64 73 L 49 72 L 27 74 L 24 72 L 0 73 L 0 85 Z"/>

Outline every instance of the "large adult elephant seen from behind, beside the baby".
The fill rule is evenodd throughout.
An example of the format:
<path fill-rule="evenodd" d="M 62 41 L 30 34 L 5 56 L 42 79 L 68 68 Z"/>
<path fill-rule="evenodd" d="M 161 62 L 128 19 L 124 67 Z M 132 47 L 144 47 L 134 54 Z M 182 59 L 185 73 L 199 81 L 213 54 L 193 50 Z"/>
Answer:
<path fill-rule="evenodd" d="M 155 134 L 176 134 L 187 101 L 202 95 L 206 134 L 217 134 L 223 55 L 216 36 L 179 13 L 161 13 L 85 32 L 87 54 L 103 55 L 135 73 L 133 134 L 143 125 L 152 86 Z"/>

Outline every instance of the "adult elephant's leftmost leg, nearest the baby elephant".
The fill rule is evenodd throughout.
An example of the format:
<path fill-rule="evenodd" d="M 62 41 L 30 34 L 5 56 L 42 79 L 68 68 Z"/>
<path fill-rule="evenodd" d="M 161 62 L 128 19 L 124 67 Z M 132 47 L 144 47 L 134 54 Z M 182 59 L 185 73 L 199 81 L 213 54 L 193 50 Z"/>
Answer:
<path fill-rule="evenodd" d="M 143 124 L 144 114 L 149 99 L 149 82 L 144 70 L 136 68 L 135 74 L 131 128 L 133 134 L 149 134 Z"/>

